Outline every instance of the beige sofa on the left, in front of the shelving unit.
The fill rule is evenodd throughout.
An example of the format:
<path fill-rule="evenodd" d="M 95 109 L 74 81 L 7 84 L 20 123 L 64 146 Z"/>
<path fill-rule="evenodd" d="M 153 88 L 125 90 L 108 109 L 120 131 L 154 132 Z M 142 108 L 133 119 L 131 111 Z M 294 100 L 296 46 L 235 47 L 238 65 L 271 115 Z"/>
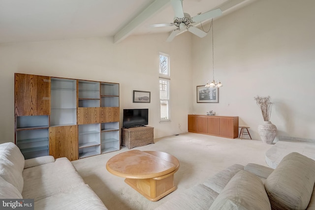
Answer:
<path fill-rule="evenodd" d="M 34 199 L 35 210 L 107 210 L 67 158 L 25 160 L 13 143 L 0 144 L 0 198 Z"/>

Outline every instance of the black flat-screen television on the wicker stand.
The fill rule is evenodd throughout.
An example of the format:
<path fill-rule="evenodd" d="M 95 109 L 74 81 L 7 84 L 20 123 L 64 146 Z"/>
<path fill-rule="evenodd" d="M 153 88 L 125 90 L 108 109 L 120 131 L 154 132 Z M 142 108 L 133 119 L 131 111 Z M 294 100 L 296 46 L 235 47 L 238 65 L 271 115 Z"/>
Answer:
<path fill-rule="evenodd" d="M 124 109 L 123 127 L 138 127 L 149 124 L 149 109 Z"/>

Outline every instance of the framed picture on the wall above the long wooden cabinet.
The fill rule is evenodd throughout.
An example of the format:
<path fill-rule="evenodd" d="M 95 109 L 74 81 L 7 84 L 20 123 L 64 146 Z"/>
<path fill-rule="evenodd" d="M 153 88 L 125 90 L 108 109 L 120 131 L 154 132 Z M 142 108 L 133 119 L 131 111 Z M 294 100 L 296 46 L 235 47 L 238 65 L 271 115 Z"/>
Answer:
<path fill-rule="evenodd" d="M 197 86 L 197 103 L 219 103 L 219 89 Z"/>

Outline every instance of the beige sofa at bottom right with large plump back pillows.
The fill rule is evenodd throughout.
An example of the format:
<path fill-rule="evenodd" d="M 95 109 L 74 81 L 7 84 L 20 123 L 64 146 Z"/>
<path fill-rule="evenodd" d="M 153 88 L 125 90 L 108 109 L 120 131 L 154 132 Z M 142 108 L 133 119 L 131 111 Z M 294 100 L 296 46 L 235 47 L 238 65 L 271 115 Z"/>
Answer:
<path fill-rule="evenodd" d="M 286 155 L 276 169 L 232 165 L 157 210 L 315 210 L 315 161 Z"/>

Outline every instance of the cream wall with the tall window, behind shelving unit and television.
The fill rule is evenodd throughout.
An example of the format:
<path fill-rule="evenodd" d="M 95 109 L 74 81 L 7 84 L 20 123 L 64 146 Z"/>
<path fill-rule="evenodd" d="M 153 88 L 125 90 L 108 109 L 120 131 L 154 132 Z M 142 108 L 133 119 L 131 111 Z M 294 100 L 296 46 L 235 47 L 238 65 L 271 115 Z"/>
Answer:
<path fill-rule="evenodd" d="M 0 45 L 0 143 L 14 142 L 14 73 L 120 83 L 120 107 L 149 108 L 155 138 L 187 132 L 192 107 L 191 36 L 166 43 L 167 34 Z M 185 45 L 183 44 L 185 43 Z M 159 123 L 159 52 L 170 55 L 171 122 Z M 183 85 L 184 84 L 184 85 Z M 151 91 L 151 103 L 132 103 L 133 90 Z"/>

